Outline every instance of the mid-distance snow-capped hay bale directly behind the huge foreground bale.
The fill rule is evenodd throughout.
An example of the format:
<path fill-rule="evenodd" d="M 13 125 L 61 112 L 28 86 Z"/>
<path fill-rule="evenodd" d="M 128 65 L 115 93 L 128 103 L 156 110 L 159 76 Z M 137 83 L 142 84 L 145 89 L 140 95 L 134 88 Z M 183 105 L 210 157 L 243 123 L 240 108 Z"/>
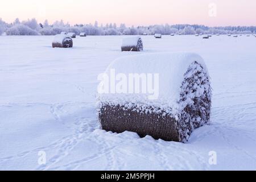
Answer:
<path fill-rule="evenodd" d="M 143 43 L 140 36 L 124 38 L 121 46 L 122 51 L 143 51 Z"/>

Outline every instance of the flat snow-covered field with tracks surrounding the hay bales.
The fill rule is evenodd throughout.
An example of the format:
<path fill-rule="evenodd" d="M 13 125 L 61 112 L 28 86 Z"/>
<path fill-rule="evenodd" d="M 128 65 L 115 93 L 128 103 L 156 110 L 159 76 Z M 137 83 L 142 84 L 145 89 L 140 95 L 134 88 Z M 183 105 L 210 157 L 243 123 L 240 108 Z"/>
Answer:
<path fill-rule="evenodd" d="M 0 36 L 0 169 L 256 169 L 256 38 L 142 36 L 143 52 L 121 52 L 122 36 L 88 36 L 52 48 L 52 36 Z M 188 143 L 106 133 L 96 115 L 97 76 L 117 57 L 199 53 L 212 78 L 211 124 Z M 209 152 L 217 164 L 209 164 Z M 40 152 L 46 164 L 39 165 Z"/>

